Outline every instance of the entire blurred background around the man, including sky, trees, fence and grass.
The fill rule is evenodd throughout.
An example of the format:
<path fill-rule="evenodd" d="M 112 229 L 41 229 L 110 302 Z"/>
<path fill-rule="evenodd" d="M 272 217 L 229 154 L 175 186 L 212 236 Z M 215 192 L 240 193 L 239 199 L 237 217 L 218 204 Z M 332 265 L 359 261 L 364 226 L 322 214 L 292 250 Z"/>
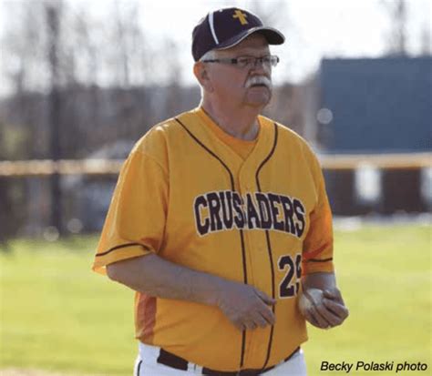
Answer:
<path fill-rule="evenodd" d="M 191 31 L 223 6 L 286 36 L 264 115 L 324 168 L 351 314 L 309 328 L 310 374 L 324 360 L 430 371 L 430 0 L 0 0 L 2 376 L 131 374 L 133 293 L 90 265 L 130 148 L 199 104 Z"/>

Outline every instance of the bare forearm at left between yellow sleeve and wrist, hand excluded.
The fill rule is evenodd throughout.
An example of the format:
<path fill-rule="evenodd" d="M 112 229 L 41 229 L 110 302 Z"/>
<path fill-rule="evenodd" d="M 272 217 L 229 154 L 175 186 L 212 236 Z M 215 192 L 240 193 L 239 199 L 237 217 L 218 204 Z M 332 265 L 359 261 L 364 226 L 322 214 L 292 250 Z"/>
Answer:
<path fill-rule="evenodd" d="M 217 303 L 225 279 L 174 264 L 150 254 L 108 265 L 108 277 L 132 290 L 165 299 Z"/>

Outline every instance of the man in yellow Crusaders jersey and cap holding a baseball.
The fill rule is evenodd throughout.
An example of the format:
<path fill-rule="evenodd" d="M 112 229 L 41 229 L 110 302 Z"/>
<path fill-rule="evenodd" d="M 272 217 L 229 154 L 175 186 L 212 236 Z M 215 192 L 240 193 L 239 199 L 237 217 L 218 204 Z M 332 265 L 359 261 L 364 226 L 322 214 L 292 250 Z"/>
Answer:
<path fill-rule="evenodd" d="M 283 41 L 245 10 L 206 15 L 192 34 L 201 106 L 150 129 L 121 170 L 94 269 L 137 291 L 136 375 L 304 375 L 305 319 L 348 314 L 319 164 L 259 115 Z"/>

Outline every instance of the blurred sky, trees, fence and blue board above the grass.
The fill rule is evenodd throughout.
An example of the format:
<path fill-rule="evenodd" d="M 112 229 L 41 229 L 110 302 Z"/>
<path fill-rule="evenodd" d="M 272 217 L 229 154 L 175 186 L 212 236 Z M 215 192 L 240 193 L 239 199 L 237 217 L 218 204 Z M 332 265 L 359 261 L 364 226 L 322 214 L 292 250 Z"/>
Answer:
<path fill-rule="evenodd" d="M 133 143 L 199 103 L 193 25 L 230 5 L 287 37 L 265 115 L 319 153 L 335 216 L 430 211 L 428 0 L 3 0 L 4 242 L 101 229 Z"/>

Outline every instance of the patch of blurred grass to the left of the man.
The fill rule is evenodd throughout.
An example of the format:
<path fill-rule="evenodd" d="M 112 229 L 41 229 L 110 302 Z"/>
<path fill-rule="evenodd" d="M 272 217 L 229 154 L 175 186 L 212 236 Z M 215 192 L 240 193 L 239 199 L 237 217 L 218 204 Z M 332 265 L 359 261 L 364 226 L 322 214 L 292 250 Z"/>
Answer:
<path fill-rule="evenodd" d="M 131 374 L 133 292 L 90 271 L 96 242 L 17 240 L 0 256 L 0 368 Z"/>

